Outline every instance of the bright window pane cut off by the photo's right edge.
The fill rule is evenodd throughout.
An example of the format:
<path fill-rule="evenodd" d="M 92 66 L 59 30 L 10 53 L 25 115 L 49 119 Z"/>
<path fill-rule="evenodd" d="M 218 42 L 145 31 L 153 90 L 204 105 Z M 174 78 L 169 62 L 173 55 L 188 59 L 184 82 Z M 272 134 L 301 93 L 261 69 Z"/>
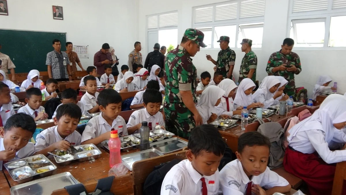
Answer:
<path fill-rule="evenodd" d="M 346 47 L 346 16 L 331 17 L 329 29 L 329 46 Z"/>

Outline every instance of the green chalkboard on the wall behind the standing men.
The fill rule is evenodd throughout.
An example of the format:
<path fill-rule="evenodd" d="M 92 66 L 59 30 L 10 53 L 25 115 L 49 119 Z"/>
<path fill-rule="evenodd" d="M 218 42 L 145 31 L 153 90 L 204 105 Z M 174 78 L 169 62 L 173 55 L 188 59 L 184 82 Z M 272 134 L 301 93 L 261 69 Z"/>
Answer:
<path fill-rule="evenodd" d="M 54 39 L 61 41 L 61 49 L 65 51 L 66 33 L 0 29 L 0 37 L 1 53 L 11 58 L 16 73 L 47 71 L 46 57 L 54 50 Z"/>

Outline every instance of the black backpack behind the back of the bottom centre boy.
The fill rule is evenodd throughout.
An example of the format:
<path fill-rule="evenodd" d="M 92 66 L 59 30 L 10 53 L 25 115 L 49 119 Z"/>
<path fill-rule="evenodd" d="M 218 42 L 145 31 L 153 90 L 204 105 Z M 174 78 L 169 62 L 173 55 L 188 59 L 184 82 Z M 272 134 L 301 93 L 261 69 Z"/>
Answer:
<path fill-rule="evenodd" d="M 145 179 L 143 195 L 160 195 L 161 185 L 167 172 L 180 161 L 182 160 L 174 159 L 170 162 L 161 163 L 160 165 L 155 166 L 154 170 Z"/>

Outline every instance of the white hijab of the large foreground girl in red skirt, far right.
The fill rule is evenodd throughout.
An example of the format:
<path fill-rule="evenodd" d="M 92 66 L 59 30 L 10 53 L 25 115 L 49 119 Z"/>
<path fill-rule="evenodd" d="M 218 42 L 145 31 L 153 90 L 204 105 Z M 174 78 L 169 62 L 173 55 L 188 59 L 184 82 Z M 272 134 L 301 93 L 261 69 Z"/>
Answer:
<path fill-rule="evenodd" d="M 346 99 L 340 94 L 329 95 L 310 117 L 293 126 L 288 140 L 291 141 L 298 132 L 318 129 L 325 133 L 325 141 L 329 143 L 333 138 L 335 130 L 333 124 L 346 120 Z"/>

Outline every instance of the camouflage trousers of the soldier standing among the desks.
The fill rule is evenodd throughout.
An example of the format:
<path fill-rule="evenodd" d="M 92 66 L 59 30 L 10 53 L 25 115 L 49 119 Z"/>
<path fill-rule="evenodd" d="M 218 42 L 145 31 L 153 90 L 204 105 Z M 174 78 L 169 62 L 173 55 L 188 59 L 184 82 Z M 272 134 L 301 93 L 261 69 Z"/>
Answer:
<path fill-rule="evenodd" d="M 184 104 L 165 104 L 166 130 L 175 135 L 189 139 L 191 130 L 196 126 L 192 112 Z"/>

